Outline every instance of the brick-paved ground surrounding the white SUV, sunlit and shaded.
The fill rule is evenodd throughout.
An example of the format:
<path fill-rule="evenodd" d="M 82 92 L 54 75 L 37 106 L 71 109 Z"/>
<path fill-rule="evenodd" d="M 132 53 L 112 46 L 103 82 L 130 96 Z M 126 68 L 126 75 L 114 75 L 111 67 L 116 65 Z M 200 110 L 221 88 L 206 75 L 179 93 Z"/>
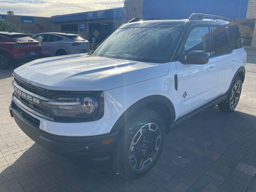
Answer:
<path fill-rule="evenodd" d="M 78 168 L 28 138 L 8 110 L 13 69 L 0 70 L 0 192 L 256 192 L 256 51 L 248 56 L 236 111 L 215 107 L 173 130 L 136 180 Z"/>

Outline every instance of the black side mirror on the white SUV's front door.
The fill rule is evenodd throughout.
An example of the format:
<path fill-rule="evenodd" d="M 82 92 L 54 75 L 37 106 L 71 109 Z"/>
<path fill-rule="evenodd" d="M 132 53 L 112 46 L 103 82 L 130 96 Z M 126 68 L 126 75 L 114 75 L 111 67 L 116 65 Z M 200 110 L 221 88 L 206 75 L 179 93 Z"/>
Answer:
<path fill-rule="evenodd" d="M 209 56 L 205 51 L 193 50 L 187 55 L 186 62 L 188 64 L 206 64 L 209 61 Z"/>

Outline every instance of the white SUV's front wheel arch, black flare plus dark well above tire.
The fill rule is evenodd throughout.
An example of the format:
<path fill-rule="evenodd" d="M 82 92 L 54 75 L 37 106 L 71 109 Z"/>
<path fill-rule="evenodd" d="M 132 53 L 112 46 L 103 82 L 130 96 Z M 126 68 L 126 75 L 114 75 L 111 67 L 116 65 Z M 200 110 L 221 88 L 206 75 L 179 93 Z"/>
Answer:
<path fill-rule="evenodd" d="M 138 100 L 132 104 L 116 121 L 110 132 L 120 130 L 127 120 L 141 108 L 148 108 L 156 111 L 166 123 L 166 132 L 170 130 L 170 124 L 174 122 L 176 118 L 175 108 L 170 99 L 162 95 L 152 95 Z"/>

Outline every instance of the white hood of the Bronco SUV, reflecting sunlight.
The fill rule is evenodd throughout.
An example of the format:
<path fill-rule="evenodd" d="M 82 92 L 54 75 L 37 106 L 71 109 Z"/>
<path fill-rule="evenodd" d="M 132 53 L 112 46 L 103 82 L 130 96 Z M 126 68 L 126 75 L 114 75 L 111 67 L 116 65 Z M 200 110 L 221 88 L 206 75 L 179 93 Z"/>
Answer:
<path fill-rule="evenodd" d="M 93 91 L 164 76 L 169 66 L 75 54 L 34 60 L 16 68 L 13 75 L 48 90 Z"/>

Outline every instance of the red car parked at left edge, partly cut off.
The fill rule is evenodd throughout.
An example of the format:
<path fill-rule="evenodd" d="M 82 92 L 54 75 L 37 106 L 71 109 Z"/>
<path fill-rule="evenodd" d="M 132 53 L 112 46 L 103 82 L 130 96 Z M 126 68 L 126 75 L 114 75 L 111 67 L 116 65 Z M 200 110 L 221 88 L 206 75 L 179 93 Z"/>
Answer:
<path fill-rule="evenodd" d="M 14 62 L 29 62 L 41 56 L 40 42 L 27 34 L 0 32 L 0 68 L 9 68 Z"/>

